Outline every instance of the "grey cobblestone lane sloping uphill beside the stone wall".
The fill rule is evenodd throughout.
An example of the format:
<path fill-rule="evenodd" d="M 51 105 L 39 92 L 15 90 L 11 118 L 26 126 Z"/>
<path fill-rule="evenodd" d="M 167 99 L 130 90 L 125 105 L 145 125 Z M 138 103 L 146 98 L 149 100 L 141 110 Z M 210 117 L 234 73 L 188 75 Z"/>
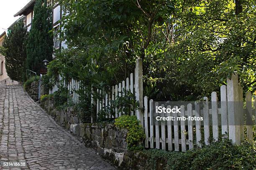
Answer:
<path fill-rule="evenodd" d="M 0 162 L 0 170 L 115 169 L 57 125 L 20 85 L 0 85 Z"/>

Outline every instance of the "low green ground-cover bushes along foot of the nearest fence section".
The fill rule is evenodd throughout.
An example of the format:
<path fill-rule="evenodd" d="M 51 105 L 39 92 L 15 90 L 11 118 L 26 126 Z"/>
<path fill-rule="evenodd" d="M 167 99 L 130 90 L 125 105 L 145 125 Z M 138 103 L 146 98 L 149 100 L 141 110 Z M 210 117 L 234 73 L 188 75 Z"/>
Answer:
<path fill-rule="evenodd" d="M 256 142 L 232 145 L 229 140 L 212 142 L 186 153 L 146 150 L 151 168 L 162 161 L 166 170 L 253 170 L 256 169 Z"/>

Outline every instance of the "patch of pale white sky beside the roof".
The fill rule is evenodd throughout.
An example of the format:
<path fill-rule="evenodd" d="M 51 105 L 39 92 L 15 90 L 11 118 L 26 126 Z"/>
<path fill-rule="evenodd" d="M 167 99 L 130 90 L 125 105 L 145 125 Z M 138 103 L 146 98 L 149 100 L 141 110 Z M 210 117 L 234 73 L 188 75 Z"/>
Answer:
<path fill-rule="evenodd" d="M 12 23 L 20 16 L 13 17 L 19 12 L 30 0 L 0 0 L 0 34 L 2 34 Z"/>

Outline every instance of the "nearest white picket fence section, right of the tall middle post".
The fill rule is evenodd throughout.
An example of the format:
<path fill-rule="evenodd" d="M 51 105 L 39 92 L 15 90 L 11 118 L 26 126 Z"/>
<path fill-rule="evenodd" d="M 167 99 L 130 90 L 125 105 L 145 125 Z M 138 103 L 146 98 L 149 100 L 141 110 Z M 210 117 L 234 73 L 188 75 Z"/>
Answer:
<path fill-rule="evenodd" d="M 229 85 L 229 84 L 228 84 Z M 239 101 L 243 101 L 242 88 L 237 86 L 239 94 Z M 227 86 L 223 85 L 220 88 L 221 93 L 221 107 L 218 108 L 217 93 L 211 94 L 211 108 L 209 108 L 210 102 L 208 98 L 204 97 L 204 107 L 200 109 L 198 102 L 195 102 L 195 110 L 192 110 L 192 104 L 187 105 L 187 110 L 184 106 L 181 106 L 181 113 L 171 114 L 168 116 L 173 117 L 203 117 L 203 121 L 200 120 L 177 120 L 167 121 L 167 125 L 161 122 L 161 125 L 152 124 L 153 110 L 156 105 L 153 105 L 153 100 L 148 101 L 148 97 L 144 97 L 144 131 L 146 135 L 145 147 L 157 148 L 162 150 L 175 150 L 185 152 L 191 150 L 195 145 L 202 147 L 202 142 L 205 145 L 209 145 L 209 139 L 219 140 L 220 135 L 225 138 L 227 135 L 232 139 L 233 143 L 240 143 L 244 140 L 244 126 L 236 120 L 241 120 L 244 123 L 244 116 L 246 112 L 256 116 L 255 109 L 252 109 L 252 96 L 251 92 L 246 92 L 246 108 L 243 108 L 243 102 L 231 102 L 232 94 L 227 94 L 231 89 L 227 89 Z M 234 88 L 233 88 L 234 90 Z M 228 102 L 230 101 L 230 102 Z M 234 104 L 241 104 L 236 107 L 238 110 L 233 110 Z M 254 100 L 254 106 L 255 106 Z M 149 107 L 148 107 L 149 105 Z M 229 107 L 228 105 L 231 105 Z M 235 119 L 236 117 L 238 119 Z M 250 118 L 251 116 L 247 117 Z M 153 120 L 154 121 L 154 120 Z M 220 122 L 218 122 L 220 121 Z M 247 122 L 249 120 L 246 120 Z M 194 131 L 195 129 L 195 131 Z M 212 133 L 210 132 L 212 130 Z M 203 135 L 202 135 L 203 134 Z M 195 135 L 195 136 L 194 136 Z M 253 139 L 252 125 L 247 125 L 247 138 Z"/>

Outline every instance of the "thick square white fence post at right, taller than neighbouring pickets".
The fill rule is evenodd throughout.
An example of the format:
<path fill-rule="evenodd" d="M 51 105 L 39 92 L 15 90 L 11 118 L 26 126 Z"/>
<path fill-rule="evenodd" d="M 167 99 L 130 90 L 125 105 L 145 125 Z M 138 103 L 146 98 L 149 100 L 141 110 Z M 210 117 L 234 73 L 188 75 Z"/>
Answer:
<path fill-rule="evenodd" d="M 232 143 L 241 143 L 241 127 L 239 123 L 240 116 L 238 115 L 238 75 L 232 74 L 231 79 L 227 79 L 228 91 L 228 134 Z"/>

